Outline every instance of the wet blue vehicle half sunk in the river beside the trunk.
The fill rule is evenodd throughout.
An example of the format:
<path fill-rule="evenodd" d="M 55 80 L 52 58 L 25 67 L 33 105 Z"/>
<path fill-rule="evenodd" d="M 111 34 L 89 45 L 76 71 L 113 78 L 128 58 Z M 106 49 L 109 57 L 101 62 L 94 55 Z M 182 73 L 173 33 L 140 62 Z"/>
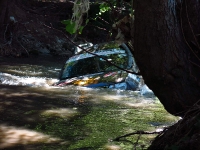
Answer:
<path fill-rule="evenodd" d="M 91 45 L 90 45 L 91 46 Z M 57 86 L 137 90 L 141 77 L 129 48 L 115 43 L 93 46 L 92 52 L 79 52 L 64 64 Z M 114 64 L 114 65 L 113 65 Z M 128 71 L 127 71 L 128 70 Z"/>

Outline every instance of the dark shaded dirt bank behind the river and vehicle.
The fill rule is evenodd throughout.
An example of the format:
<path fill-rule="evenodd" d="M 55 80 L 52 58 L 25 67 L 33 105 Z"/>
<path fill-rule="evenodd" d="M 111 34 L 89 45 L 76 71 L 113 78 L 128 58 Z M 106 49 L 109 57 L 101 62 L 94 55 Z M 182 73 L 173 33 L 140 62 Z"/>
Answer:
<path fill-rule="evenodd" d="M 109 33 L 92 24 L 81 35 L 68 34 L 61 21 L 71 19 L 72 7 L 71 1 L 16 3 L 12 7 L 15 12 L 10 16 L 15 22 L 5 24 L 0 32 L 0 55 L 29 57 L 45 54 L 68 58 L 74 53 L 72 41 L 96 44 L 108 40 Z"/>

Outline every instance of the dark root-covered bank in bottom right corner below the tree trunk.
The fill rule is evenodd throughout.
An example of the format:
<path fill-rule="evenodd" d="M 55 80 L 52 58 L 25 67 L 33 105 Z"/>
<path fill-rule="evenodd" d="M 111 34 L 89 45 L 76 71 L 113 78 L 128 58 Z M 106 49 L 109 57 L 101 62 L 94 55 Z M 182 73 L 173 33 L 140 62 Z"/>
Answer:
<path fill-rule="evenodd" d="M 200 149 L 200 106 L 195 106 L 176 124 L 159 134 L 148 150 Z"/>

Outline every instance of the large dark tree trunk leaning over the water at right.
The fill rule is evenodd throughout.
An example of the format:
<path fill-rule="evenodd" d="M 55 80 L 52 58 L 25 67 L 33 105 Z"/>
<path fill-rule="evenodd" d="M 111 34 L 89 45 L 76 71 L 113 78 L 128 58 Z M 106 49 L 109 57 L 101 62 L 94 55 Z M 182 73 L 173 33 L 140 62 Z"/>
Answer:
<path fill-rule="evenodd" d="M 135 0 L 136 62 L 174 115 L 184 115 L 200 99 L 199 16 L 196 0 Z"/>

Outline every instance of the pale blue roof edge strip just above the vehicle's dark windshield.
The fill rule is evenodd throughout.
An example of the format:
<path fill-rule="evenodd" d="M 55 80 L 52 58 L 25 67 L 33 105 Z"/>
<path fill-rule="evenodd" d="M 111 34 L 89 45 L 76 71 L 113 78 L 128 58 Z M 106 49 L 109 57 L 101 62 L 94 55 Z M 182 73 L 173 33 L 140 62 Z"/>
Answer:
<path fill-rule="evenodd" d="M 74 55 L 74 56 L 70 57 L 66 63 L 89 58 L 89 57 L 94 57 L 95 55 L 105 56 L 105 55 L 109 55 L 109 54 L 119 54 L 119 53 L 123 54 L 123 53 L 125 53 L 125 50 L 120 49 L 120 48 L 118 48 L 118 49 L 115 48 L 115 49 L 98 50 L 93 53 L 94 53 L 94 55 L 91 53 L 87 53 L 87 52 L 81 53 L 78 55 Z"/>

